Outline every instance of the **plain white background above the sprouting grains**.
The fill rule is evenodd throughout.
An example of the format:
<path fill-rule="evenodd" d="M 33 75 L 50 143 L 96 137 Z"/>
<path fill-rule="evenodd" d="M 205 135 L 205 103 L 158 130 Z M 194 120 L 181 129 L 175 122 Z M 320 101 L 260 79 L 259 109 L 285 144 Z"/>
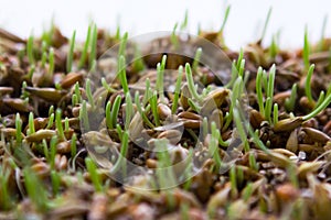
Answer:
<path fill-rule="evenodd" d="M 77 31 L 84 40 L 87 25 L 94 20 L 110 33 L 119 24 L 121 31 L 138 35 L 153 31 L 172 31 L 189 14 L 189 32 L 195 34 L 197 26 L 206 31 L 221 28 L 226 6 L 231 6 L 225 26 L 225 43 L 234 50 L 256 41 L 263 32 L 269 8 L 271 18 L 265 44 L 279 33 L 281 47 L 303 45 L 305 26 L 309 40 L 317 42 L 325 16 L 331 14 L 330 0 L 1 0 L 0 26 L 22 37 L 31 33 L 40 35 L 47 30 L 52 19 L 66 36 Z M 325 36 L 331 36 L 331 18 L 327 22 Z"/>

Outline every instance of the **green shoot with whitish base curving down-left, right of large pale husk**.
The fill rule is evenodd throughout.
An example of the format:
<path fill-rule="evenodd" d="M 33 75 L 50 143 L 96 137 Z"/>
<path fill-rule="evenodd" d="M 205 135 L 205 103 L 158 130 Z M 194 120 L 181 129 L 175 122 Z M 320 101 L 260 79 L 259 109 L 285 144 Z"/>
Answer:
<path fill-rule="evenodd" d="M 129 133 L 128 131 L 124 131 L 121 136 L 120 155 L 118 155 L 116 163 L 111 167 L 110 174 L 116 174 L 120 168 L 124 170 L 124 174 L 126 174 L 125 163 L 128 153 L 128 147 L 129 147 Z"/>

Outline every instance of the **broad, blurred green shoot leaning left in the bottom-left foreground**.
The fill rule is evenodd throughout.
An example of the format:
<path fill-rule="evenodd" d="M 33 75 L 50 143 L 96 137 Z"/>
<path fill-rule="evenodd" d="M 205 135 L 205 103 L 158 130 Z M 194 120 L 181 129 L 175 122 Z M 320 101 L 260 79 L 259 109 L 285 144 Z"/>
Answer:
<path fill-rule="evenodd" d="M 28 168 L 23 169 L 23 175 L 29 198 L 40 211 L 46 211 L 49 209 L 49 201 L 43 184 L 40 182 L 38 176 Z"/>

